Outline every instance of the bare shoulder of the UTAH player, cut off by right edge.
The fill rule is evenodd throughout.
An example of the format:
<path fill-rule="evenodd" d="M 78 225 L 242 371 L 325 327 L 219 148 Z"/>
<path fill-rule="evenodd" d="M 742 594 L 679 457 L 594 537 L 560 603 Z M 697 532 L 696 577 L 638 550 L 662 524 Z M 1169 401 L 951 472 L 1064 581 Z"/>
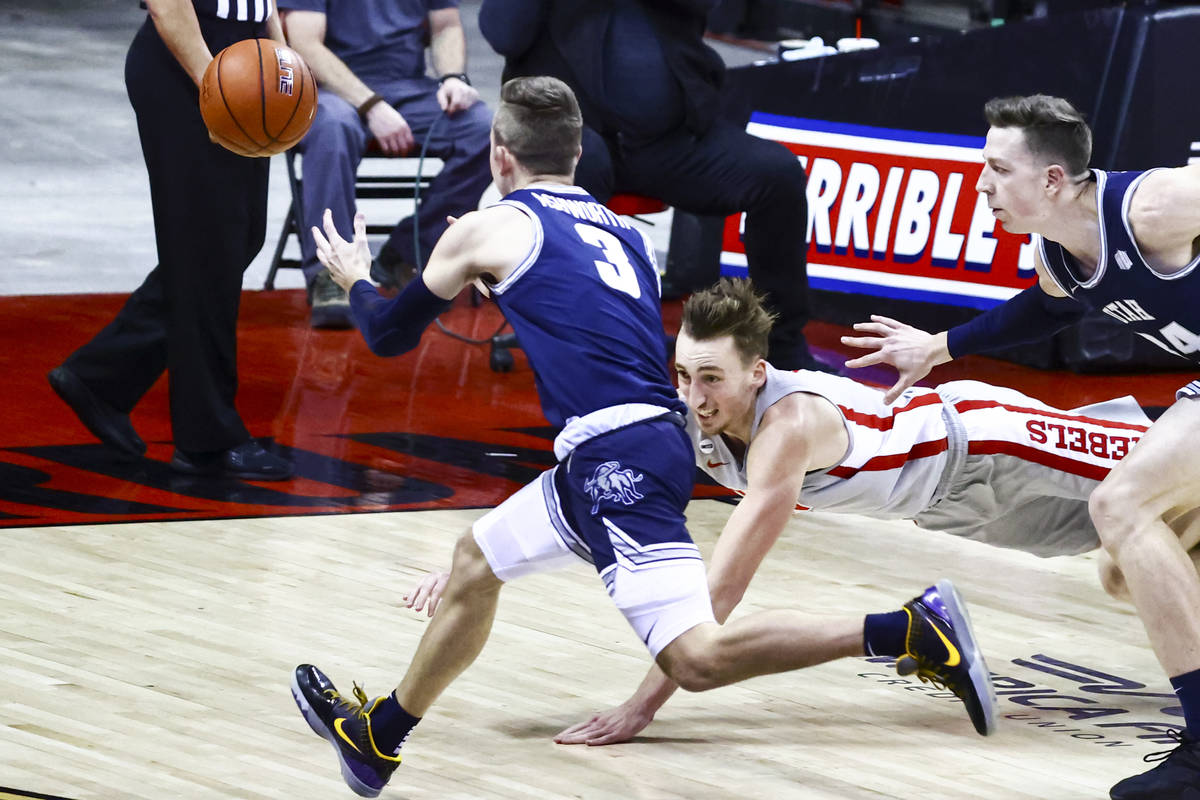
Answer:
<path fill-rule="evenodd" d="M 1129 225 L 1156 269 L 1190 264 L 1200 254 L 1200 164 L 1148 174 L 1129 204 Z"/>

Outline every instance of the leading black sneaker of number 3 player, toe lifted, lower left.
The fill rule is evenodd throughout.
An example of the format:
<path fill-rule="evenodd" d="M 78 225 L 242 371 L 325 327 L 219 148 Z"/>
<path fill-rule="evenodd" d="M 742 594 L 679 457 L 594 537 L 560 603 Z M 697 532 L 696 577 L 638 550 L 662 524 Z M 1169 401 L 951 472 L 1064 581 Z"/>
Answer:
<path fill-rule="evenodd" d="M 334 746 L 346 784 L 361 798 L 378 796 L 400 766 L 400 756 L 380 753 L 371 735 L 371 711 L 384 698 L 370 700 L 355 684 L 355 699 L 348 700 L 312 664 L 292 674 L 292 697 L 313 733 Z"/>

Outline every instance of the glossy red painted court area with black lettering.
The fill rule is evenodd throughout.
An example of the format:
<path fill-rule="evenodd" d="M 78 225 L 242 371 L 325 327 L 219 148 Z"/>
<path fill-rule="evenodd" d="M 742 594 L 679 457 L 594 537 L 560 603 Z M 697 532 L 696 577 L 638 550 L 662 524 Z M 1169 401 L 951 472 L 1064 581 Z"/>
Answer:
<path fill-rule="evenodd" d="M 254 437 L 296 464 L 281 482 L 198 479 L 172 473 L 167 384 L 133 411 L 149 443 L 122 461 L 76 420 L 46 373 L 107 324 L 124 295 L 0 297 L 6 379 L 0 417 L 0 527 L 198 519 L 408 509 L 493 506 L 553 463 L 553 431 L 541 416 L 533 373 L 517 353 L 512 372 L 488 368 L 486 344 L 437 329 L 397 359 L 372 355 L 355 331 L 308 327 L 304 293 L 247 291 L 239 325 L 238 405 Z M 678 301 L 666 302 L 668 332 Z M 445 326 L 485 339 L 502 324 L 491 303 L 466 300 Z M 850 354 L 840 326 L 812 323 L 814 351 L 828 362 Z M 887 371 L 854 377 L 889 381 Z M 973 378 L 1072 408 L 1132 393 L 1162 407 L 1189 373 L 1075 375 L 968 357 L 935 372 L 935 383 Z M 698 485 L 697 497 L 722 497 Z"/>

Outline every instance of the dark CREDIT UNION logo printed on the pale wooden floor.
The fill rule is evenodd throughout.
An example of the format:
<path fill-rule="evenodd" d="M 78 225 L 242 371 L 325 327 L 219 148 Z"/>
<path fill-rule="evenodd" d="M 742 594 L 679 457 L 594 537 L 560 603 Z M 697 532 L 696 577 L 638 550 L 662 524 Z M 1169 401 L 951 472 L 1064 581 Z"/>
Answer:
<path fill-rule="evenodd" d="M 960 703 L 953 692 L 900 678 L 894 660 L 866 657 L 871 668 L 858 676 L 941 702 Z M 1169 730 L 1183 727 L 1183 709 L 1171 692 L 1044 654 L 1013 658 L 991 674 L 1001 726 L 1027 726 L 1040 733 L 1099 747 L 1174 745 Z"/>

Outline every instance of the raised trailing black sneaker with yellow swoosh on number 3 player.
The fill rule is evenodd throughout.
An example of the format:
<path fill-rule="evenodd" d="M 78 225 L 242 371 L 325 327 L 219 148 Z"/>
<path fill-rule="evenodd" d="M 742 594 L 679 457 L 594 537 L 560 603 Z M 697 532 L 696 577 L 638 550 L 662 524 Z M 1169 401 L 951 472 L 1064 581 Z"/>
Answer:
<path fill-rule="evenodd" d="M 916 673 L 922 681 L 954 692 L 967 706 L 979 735 L 995 732 L 996 692 L 991 673 L 976 648 L 967 607 L 954 584 L 938 581 L 920 597 L 905 603 L 904 609 L 908 612 L 908 634 L 896 672 Z"/>

